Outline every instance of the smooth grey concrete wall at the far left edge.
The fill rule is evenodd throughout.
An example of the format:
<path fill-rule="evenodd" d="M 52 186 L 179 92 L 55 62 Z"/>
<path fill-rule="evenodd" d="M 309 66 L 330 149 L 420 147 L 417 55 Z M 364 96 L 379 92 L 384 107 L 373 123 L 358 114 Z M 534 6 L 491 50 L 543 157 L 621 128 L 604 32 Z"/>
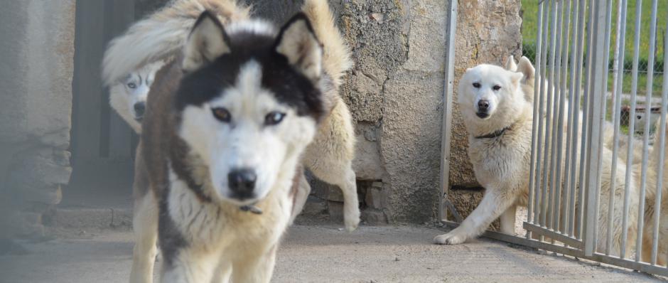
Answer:
<path fill-rule="evenodd" d="M 60 202 L 70 173 L 75 0 L 0 11 L 0 186 L 23 220 Z M 21 222 L 21 221 L 19 221 Z"/>

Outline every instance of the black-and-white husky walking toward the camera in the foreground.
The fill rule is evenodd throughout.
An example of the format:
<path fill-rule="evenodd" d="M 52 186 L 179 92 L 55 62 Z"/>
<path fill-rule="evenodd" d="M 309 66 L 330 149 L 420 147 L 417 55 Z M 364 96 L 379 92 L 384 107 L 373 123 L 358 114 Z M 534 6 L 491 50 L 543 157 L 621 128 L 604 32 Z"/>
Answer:
<path fill-rule="evenodd" d="M 149 92 L 141 140 L 162 282 L 271 279 L 293 178 L 323 114 L 323 69 L 306 16 L 277 36 L 264 25 L 224 28 L 203 13 L 183 59 Z"/>

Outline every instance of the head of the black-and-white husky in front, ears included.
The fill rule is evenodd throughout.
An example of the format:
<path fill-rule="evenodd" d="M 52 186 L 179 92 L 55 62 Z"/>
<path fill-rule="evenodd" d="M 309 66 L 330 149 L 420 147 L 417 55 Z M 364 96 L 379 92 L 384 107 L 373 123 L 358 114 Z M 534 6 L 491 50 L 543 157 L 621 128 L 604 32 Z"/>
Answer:
<path fill-rule="evenodd" d="M 176 103 L 179 136 L 208 166 L 215 196 L 247 205 L 289 186 L 316 133 L 322 50 L 304 16 L 277 38 L 258 23 L 237 29 L 228 36 L 214 16 L 200 16 Z"/>

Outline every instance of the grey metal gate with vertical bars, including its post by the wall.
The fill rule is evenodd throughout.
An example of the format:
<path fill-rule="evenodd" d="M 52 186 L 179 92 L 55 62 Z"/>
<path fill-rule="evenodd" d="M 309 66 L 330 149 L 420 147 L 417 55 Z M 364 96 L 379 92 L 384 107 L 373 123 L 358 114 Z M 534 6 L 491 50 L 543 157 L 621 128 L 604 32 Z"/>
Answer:
<path fill-rule="evenodd" d="M 451 1 L 447 112 L 456 6 Z M 666 6 L 658 0 L 539 1 L 527 233 L 487 236 L 668 276 L 668 184 L 662 182 L 668 178 L 668 24 L 657 25 L 657 18 L 668 18 Z M 450 115 L 444 113 L 444 153 Z M 447 193 L 446 158 L 441 168 Z M 446 209 L 441 200 L 441 212 Z"/>

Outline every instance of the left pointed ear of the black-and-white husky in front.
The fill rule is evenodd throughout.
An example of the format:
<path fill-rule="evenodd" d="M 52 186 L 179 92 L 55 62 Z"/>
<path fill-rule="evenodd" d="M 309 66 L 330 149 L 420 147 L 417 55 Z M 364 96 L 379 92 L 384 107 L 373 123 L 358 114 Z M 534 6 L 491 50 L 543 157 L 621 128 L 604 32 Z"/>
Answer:
<path fill-rule="evenodd" d="M 186 72 L 197 70 L 220 55 L 230 52 L 229 38 L 215 14 L 203 11 L 195 21 L 185 43 L 182 68 Z"/>

